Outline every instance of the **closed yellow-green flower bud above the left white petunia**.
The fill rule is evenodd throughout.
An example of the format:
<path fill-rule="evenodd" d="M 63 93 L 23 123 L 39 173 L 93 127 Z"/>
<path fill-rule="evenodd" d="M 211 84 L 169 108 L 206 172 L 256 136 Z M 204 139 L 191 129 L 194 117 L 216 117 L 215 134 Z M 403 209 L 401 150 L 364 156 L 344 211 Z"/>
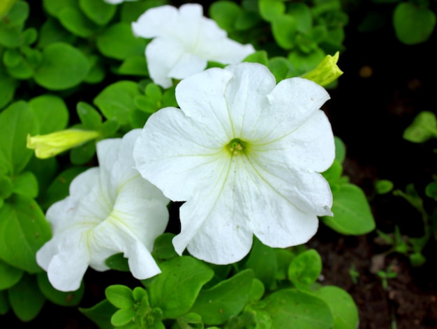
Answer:
<path fill-rule="evenodd" d="M 27 148 L 34 148 L 36 158 L 47 159 L 98 137 L 92 130 L 61 130 L 47 135 L 27 135 Z"/>

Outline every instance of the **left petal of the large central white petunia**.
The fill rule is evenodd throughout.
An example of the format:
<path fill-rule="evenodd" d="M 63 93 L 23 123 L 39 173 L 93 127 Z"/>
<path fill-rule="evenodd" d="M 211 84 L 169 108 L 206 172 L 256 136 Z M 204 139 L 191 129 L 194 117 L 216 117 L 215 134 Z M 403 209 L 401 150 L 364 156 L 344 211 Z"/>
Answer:
<path fill-rule="evenodd" d="M 227 152 L 224 141 L 180 109 L 167 107 L 147 120 L 133 158 L 141 175 L 166 197 L 185 201 L 216 174 L 216 162 L 220 165 L 221 154 Z"/>

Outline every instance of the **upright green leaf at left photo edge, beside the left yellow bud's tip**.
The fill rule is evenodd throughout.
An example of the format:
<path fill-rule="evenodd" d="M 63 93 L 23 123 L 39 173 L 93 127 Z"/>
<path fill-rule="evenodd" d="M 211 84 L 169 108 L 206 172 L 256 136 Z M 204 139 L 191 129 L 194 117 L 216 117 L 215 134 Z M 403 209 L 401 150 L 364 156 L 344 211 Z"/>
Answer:
<path fill-rule="evenodd" d="M 14 102 L 0 113 L 0 172 L 13 176 L 26 167 L 33 154 L 26 148 L 27 134 L 37 132 L 35 115 L 27 102 Z"/>

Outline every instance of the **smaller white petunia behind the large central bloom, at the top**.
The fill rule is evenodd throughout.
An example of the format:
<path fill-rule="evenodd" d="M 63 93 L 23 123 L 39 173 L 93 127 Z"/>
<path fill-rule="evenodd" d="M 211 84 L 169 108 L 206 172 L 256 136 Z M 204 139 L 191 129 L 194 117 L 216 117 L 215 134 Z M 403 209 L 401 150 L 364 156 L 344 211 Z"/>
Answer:
<path fill-rule="evenodd" d="M 151 8 L 132 23 L 135 36 L 154 38 L 146 47 L 147 67 L 155 84 L 168 88 L 171 78 L 184 79 L 207 67 L 207 61 L 241 62 L 255 52 L 227 37 L 214 20 L 204 17 L 202 6 L 187 3 Z"/>

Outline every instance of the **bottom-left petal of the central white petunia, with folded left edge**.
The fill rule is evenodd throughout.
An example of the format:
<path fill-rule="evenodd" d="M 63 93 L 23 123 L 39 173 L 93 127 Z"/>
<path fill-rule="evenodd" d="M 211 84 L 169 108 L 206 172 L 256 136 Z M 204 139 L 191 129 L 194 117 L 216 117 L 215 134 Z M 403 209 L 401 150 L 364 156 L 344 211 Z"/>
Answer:
<path fill-rule="evenodd" d="M 181 233 L 172 242 L 179 254 L 188 247 L 198 259 L 235 263 L 251 249 L 253 234 L 246 227 L 244 208 L 234 199 L 235 163 L 217 167 L 209 190 L 199 190 L 180 208 Z"/>

